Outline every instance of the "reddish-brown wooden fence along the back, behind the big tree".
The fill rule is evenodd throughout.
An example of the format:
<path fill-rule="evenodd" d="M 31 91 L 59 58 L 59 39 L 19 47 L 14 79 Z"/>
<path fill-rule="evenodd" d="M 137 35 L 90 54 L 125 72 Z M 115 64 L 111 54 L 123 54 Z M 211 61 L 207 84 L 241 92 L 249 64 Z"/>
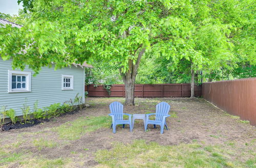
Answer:
<path fill-rule="evenodd" d="M 111 94 L 103 88 L 103 85 L 85 86 L 88 96 L 95 97 L 125 97 L 124 85 L 113 85 Z M 195 95 L 201 96 L 201 86 L 195 85 Z M 155 84 L 155 85 L 135 85 L 135 97 L 153 98 L 153 97 L 190 97 L 190 84 Z"/>

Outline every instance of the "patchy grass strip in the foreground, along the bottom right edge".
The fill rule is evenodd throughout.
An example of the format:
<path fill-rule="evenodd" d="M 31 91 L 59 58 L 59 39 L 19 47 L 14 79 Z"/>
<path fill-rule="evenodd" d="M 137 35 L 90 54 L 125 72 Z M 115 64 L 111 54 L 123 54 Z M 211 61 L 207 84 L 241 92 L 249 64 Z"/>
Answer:
<path fill-rule="evenodd" d="M 203 147 L 199 143 L 161 146 L 141 139 L 132 144 L 115 143 L 111 150 L 99 150 L 96 160 L 99 167 L 252 167 L 256 163 L 255 159 L 231 160 L 232 152 L 236 151 L 222 150 L 222 146 Z"/>

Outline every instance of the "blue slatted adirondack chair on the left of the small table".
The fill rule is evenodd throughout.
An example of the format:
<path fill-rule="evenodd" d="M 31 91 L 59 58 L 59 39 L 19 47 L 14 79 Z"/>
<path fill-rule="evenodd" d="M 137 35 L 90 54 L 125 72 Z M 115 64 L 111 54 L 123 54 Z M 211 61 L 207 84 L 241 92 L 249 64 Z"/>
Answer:
<path fill-rule="evenodd" d="M 123 105 L 120 102 L 115 101 L 111 103 L 110 111 L 111 114 L 109 114 L 109 116 L 112 117 L 112 125 L 110 128 L 113 127 L 113 133 L 116 133 L 116 125 L 118 124 L 123 124 L 123 128 L 124 124 L 129 124 L 130 131 L 132 132 L 132 115 L 123 113 Z M 123 115 L 129 116 L 129 120 L 123 120 Z"/>

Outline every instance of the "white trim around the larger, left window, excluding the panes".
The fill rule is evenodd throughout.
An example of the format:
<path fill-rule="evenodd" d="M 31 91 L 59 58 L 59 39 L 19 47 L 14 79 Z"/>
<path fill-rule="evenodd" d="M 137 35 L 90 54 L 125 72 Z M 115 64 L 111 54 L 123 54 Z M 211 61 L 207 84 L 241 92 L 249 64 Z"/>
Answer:
<path fill-rule="evenodd" d="M 12 90 L 12 75 L 26 75 L 26 89 L 25 90 Z M 31 92 L 31 72 L 12 71 L 8 70 L 8 93 L 16 92 Z"/>

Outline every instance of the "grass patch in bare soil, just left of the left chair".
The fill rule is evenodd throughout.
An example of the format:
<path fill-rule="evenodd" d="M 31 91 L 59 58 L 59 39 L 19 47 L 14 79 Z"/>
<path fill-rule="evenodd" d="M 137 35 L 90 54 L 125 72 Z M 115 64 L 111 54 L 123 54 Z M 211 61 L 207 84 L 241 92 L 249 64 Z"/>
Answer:
<path fill-rule="evenodd" d="M 75 140 L 87 132 L 109 127 L 111 121 L 109 116 L 83 117 L 72 122 L 66 122 L 59 127 L 53 128 L 53 130 L 57 131 L 60 138 Z"/>

